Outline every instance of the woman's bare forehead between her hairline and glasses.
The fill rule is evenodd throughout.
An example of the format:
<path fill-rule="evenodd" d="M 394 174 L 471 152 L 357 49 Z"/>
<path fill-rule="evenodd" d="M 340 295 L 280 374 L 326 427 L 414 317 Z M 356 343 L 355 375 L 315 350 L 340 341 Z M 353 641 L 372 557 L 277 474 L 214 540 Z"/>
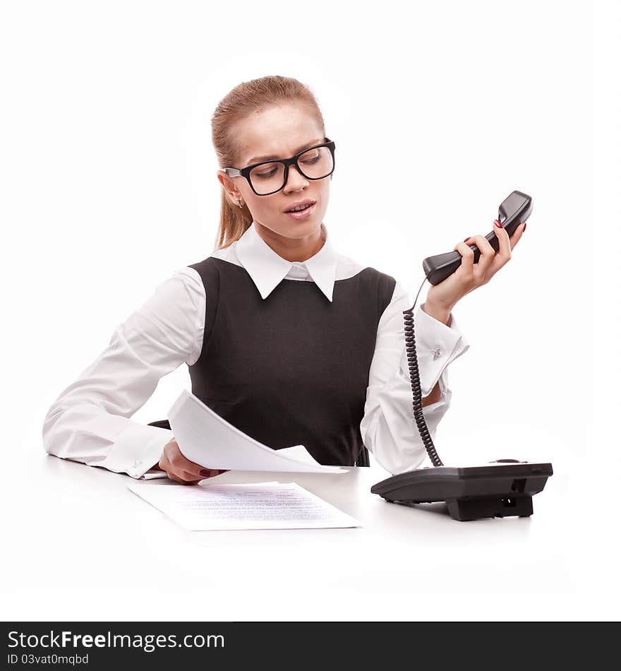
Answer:
<path fill-rule="evenodd" d="M 318 121 L 303 105 L 273 105 L 234 126 L 241 165 L 263 158 L 288 158 L 304 145 L 323 140 Z"/>

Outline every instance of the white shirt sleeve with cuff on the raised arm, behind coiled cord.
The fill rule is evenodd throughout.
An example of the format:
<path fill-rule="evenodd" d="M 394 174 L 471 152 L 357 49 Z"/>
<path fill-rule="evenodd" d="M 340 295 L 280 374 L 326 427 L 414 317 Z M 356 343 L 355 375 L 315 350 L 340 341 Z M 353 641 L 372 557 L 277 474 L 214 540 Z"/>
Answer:
<path fill-rule="evenodd" d="M 414 420 L 404 339 L 403 312 L 411 308 L 412 303 L 404 287 L 397 283 L 392 300 L 378 324 L 364 416 L 360 424 L 363 443 L 382 468 L 393 475 L 419 468 L 428 458 Z M 440 386 L 440 400 L 423 407 L 423 417 L 432 440 L 450 406 L 452 392 L 448 386 L 448 366 L 470 347 L 453 314 L 449 324 L 447 326 L 434 319 L 421 307 L 414 315 L 416 357 L 423 397 L 429 396 L 436 383 Z"/>

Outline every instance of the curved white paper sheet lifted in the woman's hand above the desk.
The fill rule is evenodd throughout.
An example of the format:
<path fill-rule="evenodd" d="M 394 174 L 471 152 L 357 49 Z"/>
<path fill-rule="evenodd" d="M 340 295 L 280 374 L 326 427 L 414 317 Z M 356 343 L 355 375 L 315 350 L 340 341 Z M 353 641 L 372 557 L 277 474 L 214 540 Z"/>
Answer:
<path fill-rule="evenodd" d="M 280 450 L 263 445 L 227 422 L 187 389 L 168 412 L 179 449 L 206 468 L 272 470 L 287 473 L 346 473 L 315 461 L 303 445 Z"/>

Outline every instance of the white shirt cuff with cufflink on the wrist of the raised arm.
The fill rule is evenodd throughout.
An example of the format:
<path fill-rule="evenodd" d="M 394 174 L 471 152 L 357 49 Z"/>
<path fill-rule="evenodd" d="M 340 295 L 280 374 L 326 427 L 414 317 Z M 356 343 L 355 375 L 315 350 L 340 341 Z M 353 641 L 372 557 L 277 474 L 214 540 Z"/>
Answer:
<path fill-rule="evenodd" d="M 461 357 L 470 345 L 451 313 L 450 326 L 427 314 L 420 306 L 414 316 L 414 338 L 418 373 L 421 376 L 423 398 L 429 396 L 442 375 L 442 371 Z M 399 367 L 409 379 L 407 350 L 404 348 Z"/>

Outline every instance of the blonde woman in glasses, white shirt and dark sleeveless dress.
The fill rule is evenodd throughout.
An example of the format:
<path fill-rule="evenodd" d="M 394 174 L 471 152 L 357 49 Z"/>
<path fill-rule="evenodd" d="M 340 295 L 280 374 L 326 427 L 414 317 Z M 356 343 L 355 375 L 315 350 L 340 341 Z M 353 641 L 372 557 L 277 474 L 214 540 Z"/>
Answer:
<path fill-rule="evenodd" d="M 195 484 L 222 473 L 188 461 L 172 432 L 130 417 L 186 362 L 192 392 L 274 449 L 303 444 L 320 462 L 359 463 L 366 446 L 390 473 L 426 451 L 414 424 L 403 337 L 411 302 L 390 275 L 332 248 L 323 218 L 334 143 L 310 90 L 292 78 L 241 83 L 219 102 L 217 248 L 180 268 L 56 399 L 44 448 L 133 477 Z M 498 224 L 498 222 L 495 222 Z M 416 314 L 423 408 L 431 436 L 447 411 L 447 366 L 468 348 L 452 308 L 511 258 L 482 235 L 454 249 L 457 271 Z M 466 242 L 481 250 L 478 263 Z"/>

